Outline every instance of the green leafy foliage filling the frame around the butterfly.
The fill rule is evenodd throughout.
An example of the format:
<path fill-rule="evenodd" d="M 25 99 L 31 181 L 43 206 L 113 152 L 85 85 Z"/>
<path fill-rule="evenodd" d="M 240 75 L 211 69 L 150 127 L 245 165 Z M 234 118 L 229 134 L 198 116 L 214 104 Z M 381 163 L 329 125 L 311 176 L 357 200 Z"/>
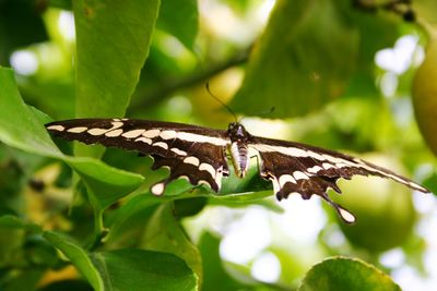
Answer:
<path fill-rule="evenodd" d="M 226 223 L 251 209 L 272 221 L 287 214 L 255 160 L 243 181 L 225 179 L 218 195 L 180 180 L 155 197 L 149 187 L 167 172 L 151 171 L 150 158 L 52 140 L 44 128 L 51 120 L 125 116 L 223 128 L 232 114 L 208 95 L 210 81 L 212 93 L 241 116 L 276 108 L 268 116 L 276 120 L 247 118 L 247 128 L 376 151 L 382 166 L 436 192 L 433 156 L 410 101 L 415 76 L 414 110 L 435 149 L 435 122 L 426 114 L 437 110 L 436 83 L 424 70 L 435 71 L 428 63 L 436 50 L 427 51 L 418 74 L 411 60 L 401 72 L 375 63 L 403 35 L 435 35 L 429 23 L 437 19 L 428 12 L 436 4 L 379 2 L 276 0 L 263 26 L 261 0 L 0 1 L 0 289 L 399 290 L 402 283 L 389 276 L 397 267 L 381 263 L 393 248 L 426 271 L 426 238 L 414 231 L 421 216 L 411 193 L 390 182 L 345 183 L 342 199 L 356 194 L 350 207 L 357 226 L 339 225 L 328 209 L 311 245 L 272 222 L 274 238 L 261 251 L 281 271 L 267 280 L 255 275 L 257 257 L 228 262 L 221 250 Z M 73 38 L 62 31 L 71 15 Z M 399 84 L 391 93 L 389 77 Z M 225 222 L 217 229 L 209 216 Z M 332 243 L 339 235 L 343 241 Z"/>

